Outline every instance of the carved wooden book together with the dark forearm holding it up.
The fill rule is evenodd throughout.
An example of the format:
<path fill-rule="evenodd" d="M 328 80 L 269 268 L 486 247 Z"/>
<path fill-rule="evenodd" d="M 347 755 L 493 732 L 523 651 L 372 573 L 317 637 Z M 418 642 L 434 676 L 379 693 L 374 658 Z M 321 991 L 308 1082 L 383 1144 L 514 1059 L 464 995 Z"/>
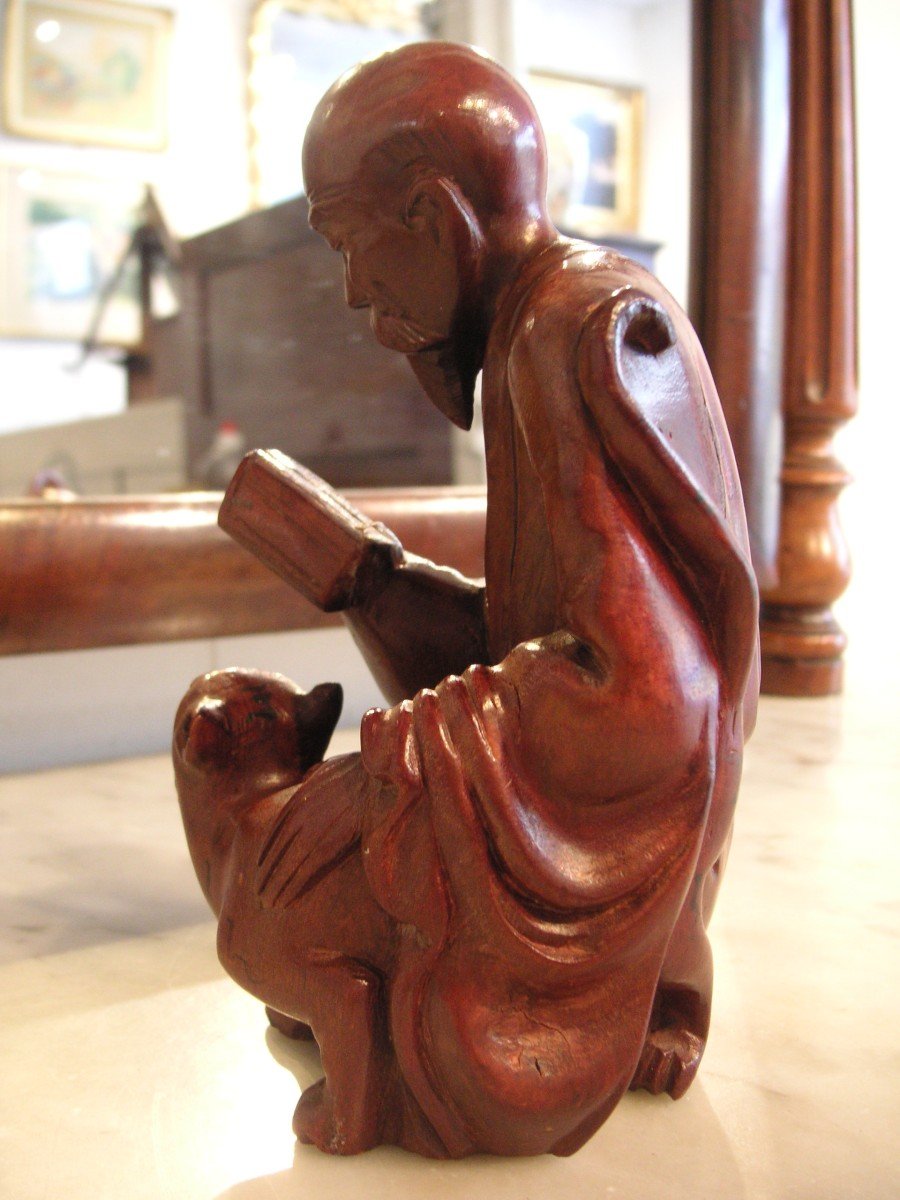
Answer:
<path fill-rule="evenodd" d="M 391 703 L 485 661 L 484 586 L 407 553 L 287 455 L 247 455 L 218 523 L 318 608 L 343 612 Z"/>

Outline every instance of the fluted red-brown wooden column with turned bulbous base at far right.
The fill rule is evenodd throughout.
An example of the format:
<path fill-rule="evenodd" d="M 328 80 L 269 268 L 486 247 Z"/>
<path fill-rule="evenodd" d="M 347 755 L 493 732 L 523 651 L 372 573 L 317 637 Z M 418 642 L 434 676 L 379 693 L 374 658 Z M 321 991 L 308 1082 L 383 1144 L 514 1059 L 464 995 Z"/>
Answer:
<path fill-rule="evenodd" d="M 856 412 L 856 194 L 850 0 L 791 5 L 785 457 L 776 582 L 762 590 L 763 684 L 840 691 L 850 581 L 836 504 L 838 428 Z"/>

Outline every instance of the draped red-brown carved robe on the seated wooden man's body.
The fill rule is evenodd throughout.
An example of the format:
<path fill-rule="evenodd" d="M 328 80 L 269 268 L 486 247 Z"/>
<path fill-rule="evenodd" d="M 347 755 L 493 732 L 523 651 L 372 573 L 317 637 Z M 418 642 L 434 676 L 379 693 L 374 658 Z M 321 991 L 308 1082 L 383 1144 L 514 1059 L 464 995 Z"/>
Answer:
<path fill-rule="evenodd" d="M 670 346 L 659 323 L 629 341 L 648 298 Z M 635 264 L 539 256 L 503 302 L 482 398 L 487 662 L 366 715 L 340 853 L 314 817 L 329 764 L 307 776 L 287 800 L 308 805 L 306 858 L 278 895 L 359 857 L 392 923 L 391 954 L 365 959 L 391 1069 L 444 1153 L 568 1153 L 628 1087 L 673 929 L 728 834 L 755 586 L 706 364 Z M 264 858 L 258 902 L 277 908 Z"/>

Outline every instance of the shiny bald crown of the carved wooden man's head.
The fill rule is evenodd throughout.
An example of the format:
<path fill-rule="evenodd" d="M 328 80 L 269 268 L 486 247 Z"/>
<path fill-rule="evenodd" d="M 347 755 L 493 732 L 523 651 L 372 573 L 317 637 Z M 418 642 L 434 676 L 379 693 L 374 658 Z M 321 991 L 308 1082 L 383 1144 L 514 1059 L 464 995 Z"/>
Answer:
<path fill-rule="evenodd" d="M 452 180 L 485 228 L 546 221 L 546 151 L 530 100 L 466 46 L 404 46 L 354 67 L 324 95 L 304 143 L 311 204 L 348 185 L 398 197 L 419 178 Z"/>

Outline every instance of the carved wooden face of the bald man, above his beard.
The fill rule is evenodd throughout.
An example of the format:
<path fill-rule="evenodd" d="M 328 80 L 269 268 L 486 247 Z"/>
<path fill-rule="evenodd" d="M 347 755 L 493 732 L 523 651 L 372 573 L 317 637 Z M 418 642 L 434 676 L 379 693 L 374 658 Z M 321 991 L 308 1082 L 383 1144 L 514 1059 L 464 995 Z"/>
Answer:
<path fill-rule="evenodd" d="M 349 188 L 313 202 L 310 224 L 343 254 L 347 304 L 371 310 L 383 346 L 414 355 L 450 341 L 460 299 L 451 247 Z"/>

